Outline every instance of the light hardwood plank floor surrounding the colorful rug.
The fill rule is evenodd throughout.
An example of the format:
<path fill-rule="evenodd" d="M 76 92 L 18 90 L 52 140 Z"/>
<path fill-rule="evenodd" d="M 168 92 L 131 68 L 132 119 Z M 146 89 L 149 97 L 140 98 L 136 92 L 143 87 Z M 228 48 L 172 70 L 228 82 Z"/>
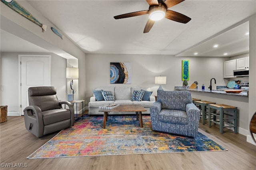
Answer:
<path fill-rule="evenodd" d="M 199 131 L 218 142 L 228 151 L 119 156 L 88 156 L 72 158 L 26 159 L 50 140 L 50 134 L 36 138 L 24 125 L 24 117 L 8 117 L 0 124 L 0 169 L 24 170 L 255 170 L 256 146 L 246 136 L 224 128 L 208 128 L 200 122 Z M 5 164 L 21 164 L 23 168 L 6 168 Z"/>

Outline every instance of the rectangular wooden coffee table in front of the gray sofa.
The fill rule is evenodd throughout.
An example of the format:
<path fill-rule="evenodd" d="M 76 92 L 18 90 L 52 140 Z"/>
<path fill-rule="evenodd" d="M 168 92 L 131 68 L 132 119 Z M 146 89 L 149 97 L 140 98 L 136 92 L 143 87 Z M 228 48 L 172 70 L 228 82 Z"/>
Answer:
<path fill-rule="evenodd" d="M 145 111 L 146 109 L 142 105 L 120 105 L 114 109 L 100 109 L 99 112 L 104 112 L 102 128 L 106 128 L 106 121 L 108 120 L 109 112 L 135 112 L 136 121 L 140 119 L 140 127 L 143 127 L 141 112 L 145 112 Z"/>

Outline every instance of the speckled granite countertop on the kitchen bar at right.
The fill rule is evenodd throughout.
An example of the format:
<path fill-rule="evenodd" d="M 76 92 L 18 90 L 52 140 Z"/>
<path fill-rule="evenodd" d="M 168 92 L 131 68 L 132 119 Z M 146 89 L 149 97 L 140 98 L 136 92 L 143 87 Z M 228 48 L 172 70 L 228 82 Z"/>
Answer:
<path fill-rule="evenodd" d="M 175 86 L 175 90 L 188 90 L 188 91 L 195 91 L 195 92 L 201 92 L 201 93 L 216 93 L 216 94 L 222 94 L 222 95 L 234 95 L 234 96 L 241 96 L 241 97 L 248 97 L 249 96 L 249 91 L 248 90 L 243 90 L 241 93 L 226 93 L 224 89 L 220 90 L 202 90 L 202 89 L 189 89 L 189 88 L 184 88 L 183 86 Z M 230 90 L 230 89 L 229 89 Z M 237 89 L 240 90 L 240 89 Z"/>

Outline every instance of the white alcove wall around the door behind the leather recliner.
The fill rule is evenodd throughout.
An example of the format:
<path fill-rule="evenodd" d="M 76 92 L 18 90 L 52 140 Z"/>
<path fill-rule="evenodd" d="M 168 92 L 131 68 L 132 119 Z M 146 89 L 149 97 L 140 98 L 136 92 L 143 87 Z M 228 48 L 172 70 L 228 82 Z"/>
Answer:
<path fill-rule="evenodd" d="M 8 116 L 20 115 L 18 55 L 51 55 L 51 85 L 56 87 L 59 100 L 66 100 L 66 59 L 54 53 L 8 53 L 1 55 L 1 105 L 8 106 Z"/>

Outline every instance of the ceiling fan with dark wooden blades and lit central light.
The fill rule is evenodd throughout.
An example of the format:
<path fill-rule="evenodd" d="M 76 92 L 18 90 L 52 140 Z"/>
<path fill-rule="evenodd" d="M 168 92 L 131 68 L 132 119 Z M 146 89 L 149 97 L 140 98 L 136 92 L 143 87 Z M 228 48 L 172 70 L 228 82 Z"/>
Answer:
<path fill-rule="evenodd" d="M 188 23 L 191 20 L 191 18 L 189 18 L 188 16 L 185 16 L 183 14 L 180 14 L 172 10 L 168 10 L 168 8 L 174 5 L 177 5 L 180 2 L 183 2 L 184 0 L 146 0 L 146 1 L 149 4 L 148 10 L 121 14 L 118 16 L 114 16 L 114 18 L 121 19 L 121 18 L 129 18 L 133 16 L 149 14 L 149 19 L 144 28 L 143 33 L 149 32 L 152 26 L 154 25 L 155 21 L 160 20 L 164 17 L 169 20 L 173 20 L 176 22 L 184 23 L 184 24 Z"/>

